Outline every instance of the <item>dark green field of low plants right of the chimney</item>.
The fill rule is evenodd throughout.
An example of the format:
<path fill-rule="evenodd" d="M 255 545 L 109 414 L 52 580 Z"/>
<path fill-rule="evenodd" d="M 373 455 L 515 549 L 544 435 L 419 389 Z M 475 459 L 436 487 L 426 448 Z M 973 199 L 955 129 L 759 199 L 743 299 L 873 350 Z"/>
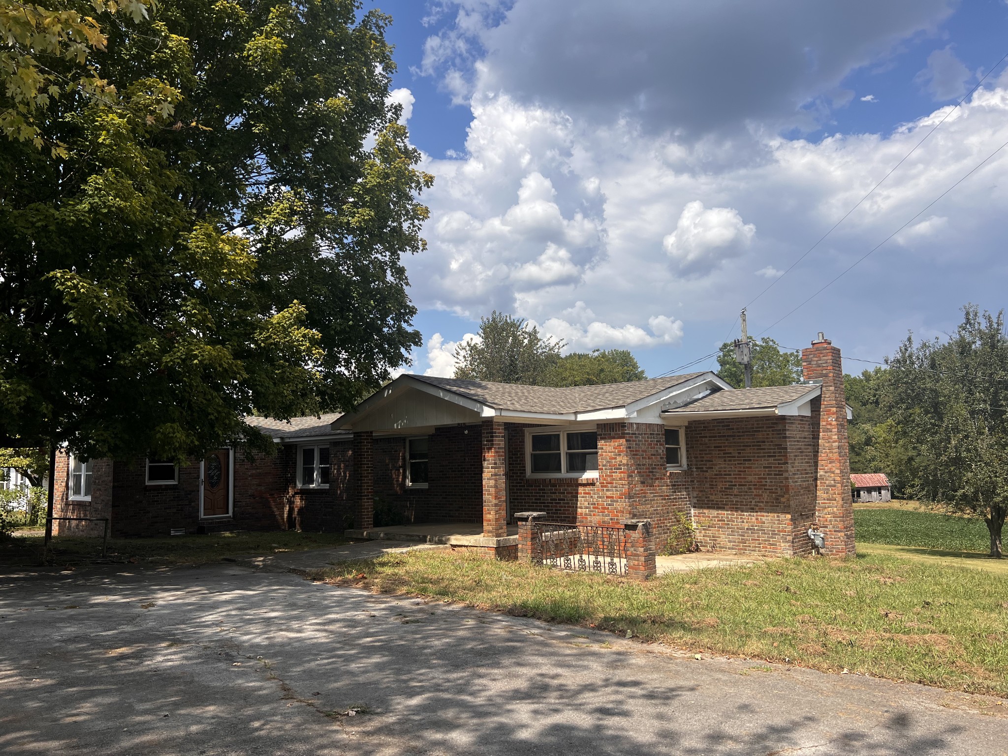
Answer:
<path fill-rule="evenodd" d="M 887 543 L 941 551 L 990 550 L 987 525 L 973 517 L 907 509 L 855 509 L 859 543 Z"/>

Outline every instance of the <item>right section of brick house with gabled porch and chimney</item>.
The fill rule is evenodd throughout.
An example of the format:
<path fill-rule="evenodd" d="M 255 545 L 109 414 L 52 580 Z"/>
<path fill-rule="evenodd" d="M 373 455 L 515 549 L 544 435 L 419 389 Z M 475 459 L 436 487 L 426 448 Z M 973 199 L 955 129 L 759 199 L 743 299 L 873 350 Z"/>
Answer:
<path fill-rule="evenodd" d="M 704 548 L 854 551 L 840 350 L 802 352 L 805 382 L 733 389 L 711 372 L 548 388 L 403 375 L 344 415 L 353 473 L 341 505 L 358 531 L 375 505 L 408 522 L 481 523 L 507 553 L 516 512 L 560 522 L 679 517 Z M 474 545 L 477 545 L 474 543 Z"/>

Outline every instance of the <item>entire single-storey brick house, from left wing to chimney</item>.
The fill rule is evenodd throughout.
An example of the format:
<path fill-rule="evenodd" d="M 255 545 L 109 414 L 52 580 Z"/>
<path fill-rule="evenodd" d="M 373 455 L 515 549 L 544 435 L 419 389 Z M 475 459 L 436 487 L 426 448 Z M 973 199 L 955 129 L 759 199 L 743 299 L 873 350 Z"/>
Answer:
<path fill-rule="evenodd" d="M 360 533 L 376 515 L 472 523 L 473 545 L 501 556 L 527 510 L 571 523 L 647 518 L 659 547 L 687 517 L 704 548 L 776 555 L 810 552 L 815 522 L 828 553 L 853 553 L 840 350 L 813 342 L 802 367 L 802 384 L 755 389 L 711 372 L 572 388 L 403 375 L 346 415 L 249 418 L 272 435 L 272 457 L 222 450 L 180 470 L 96 461 L 89 507 L 111 513 L 114 534 L 137 535 L 224 524 Z M 65 511 L 83 485 L 73 464 L 56 475 Z M 229 481 L 231 503 L 208 493 L 211 472 Z"/>

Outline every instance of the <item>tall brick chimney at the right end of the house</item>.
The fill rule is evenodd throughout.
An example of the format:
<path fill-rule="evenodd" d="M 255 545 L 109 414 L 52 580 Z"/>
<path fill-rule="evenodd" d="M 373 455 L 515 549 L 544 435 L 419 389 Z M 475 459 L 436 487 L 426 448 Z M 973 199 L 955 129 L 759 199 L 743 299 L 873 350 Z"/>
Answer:
<path fill-rule="evenodd" d="M 823 382 L 818 412 L 818 455 L 815 471 L 815 521 L 826 534 L 826 553 L 854 553 L 854 507 L 851 502 L 851 461 L 847 440 L 847 397 L 840 350 L 820 338 L 801 350 L 805 380 Z M 814 418 L 814 412 L 813 412 Z"/>

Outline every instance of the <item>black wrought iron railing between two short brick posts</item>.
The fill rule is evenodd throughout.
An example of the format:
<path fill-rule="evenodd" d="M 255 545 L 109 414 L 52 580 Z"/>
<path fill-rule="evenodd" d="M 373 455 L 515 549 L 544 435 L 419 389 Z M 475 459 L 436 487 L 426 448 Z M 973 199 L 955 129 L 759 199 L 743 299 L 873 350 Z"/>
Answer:
<path fill-rule="evenodd" d="M 582 573 L 627 574 L 622 526 L 534 522 L 532 537 L 532 551 L 542 564 Z"/>

